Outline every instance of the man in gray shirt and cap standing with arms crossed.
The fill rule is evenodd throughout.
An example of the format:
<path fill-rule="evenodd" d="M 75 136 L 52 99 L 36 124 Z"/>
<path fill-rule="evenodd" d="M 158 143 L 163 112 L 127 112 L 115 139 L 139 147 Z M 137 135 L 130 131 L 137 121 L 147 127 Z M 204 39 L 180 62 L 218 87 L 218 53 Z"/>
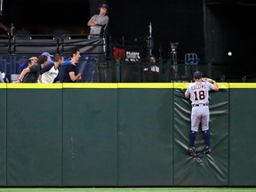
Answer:
<path fill-rule="evenodd" d="M 89 39 L 93 37 L 100 37 L 104 35 L 105 30 L 108 26 L 108 5 L 100 4 L 99 6 L 100 13 L 92 16 L 91 20 L 88 21 L 87 25 L 90 26 L 90 36 Z"/>

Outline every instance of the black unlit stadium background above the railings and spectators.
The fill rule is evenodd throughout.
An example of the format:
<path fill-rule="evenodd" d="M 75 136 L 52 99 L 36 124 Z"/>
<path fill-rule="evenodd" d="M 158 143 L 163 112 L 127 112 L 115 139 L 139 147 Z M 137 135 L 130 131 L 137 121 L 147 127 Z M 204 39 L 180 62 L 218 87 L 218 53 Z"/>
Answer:
<path fill-rule="evenodd" d="M 253 0 L 3 0 L 0 21 L 16 30 L 52 34 L 89 32 L 86 26 L 101 3 L 109 5 L 108 35 L 148 36 L 152 23 L 153 52 L 170 58 L 171 43 L 179 43 L 178 59 L 196 52 L 201 61 L 241 68 L 234 75 L 255 73 L 256 2 Z M 1 30 L 4 33 L 4 30 Z M 232 52 L 232 56 L 228 56 Z M 228 68 L 228 70 L 230 70 Z"/>

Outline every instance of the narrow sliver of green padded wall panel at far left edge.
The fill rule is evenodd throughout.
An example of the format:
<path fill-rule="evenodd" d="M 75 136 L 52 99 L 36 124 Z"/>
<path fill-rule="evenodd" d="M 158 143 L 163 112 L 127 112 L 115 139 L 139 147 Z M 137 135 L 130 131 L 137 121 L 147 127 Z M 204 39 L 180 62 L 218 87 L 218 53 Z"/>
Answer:
<path fill-rule="evenodd" d="M 6 84 L 0 84 L 0 186 L 6 185 Z"/>

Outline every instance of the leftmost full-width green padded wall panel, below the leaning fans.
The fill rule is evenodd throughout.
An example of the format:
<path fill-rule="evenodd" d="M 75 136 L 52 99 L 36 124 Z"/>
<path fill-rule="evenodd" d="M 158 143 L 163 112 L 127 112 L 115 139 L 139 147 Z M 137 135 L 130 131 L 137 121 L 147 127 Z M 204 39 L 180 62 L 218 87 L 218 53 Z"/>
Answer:
<path fill-rule="evenodd" d="M 57 84 L 7 87 L 7 185 L 61 186 L 62 90 Z"/>

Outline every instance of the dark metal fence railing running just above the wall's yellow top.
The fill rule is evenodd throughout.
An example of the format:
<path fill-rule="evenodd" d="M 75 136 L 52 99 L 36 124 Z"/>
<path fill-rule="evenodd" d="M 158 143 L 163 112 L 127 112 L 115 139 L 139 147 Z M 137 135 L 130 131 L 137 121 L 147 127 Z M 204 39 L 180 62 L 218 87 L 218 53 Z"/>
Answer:
<path fill-rule="evenodd" d="M 0 71 L 6 74 L 9 82 L 12 74 L 20 74 L 20 65 L 30 56 L 2 55 L 0 56 Z M 89 58 L 89 60 L 88 60 Z M 65 56 L 65 60 L 69 57 Z M 231 76 L 225 71 L 224 65 L 200 63 L 195 66 L 185 65 L 184 60 L 178 60 L 175 66 L 172 60 L 156 60 L 159 72 L 151 70 L 147 60 L 125 61 L 111 58 L 98 58 L 82 54 L 79 65 L 85 65 L 81 82 L 99 83 L 172 83 L 190 82 L 196 70 L 203 72 L 204 76 L 211 77 L 218 82 L 256 82 L 256 75 Z M 191 68 L 190 68 L 191 67 Z M 63 76 L 60 68 L 60 76 Z M 147 70 L 145 70 L 145 68 Z M 238 68 L 238 67 L 237 67 Z M 233 68 L 234 69 L 234 68 Z M 186 71 L 187 70 L 187 71 Z M 235 69 L 234 69 L 235 70 Z M 61 79 L 61 78 L 60 78 Z"/>

